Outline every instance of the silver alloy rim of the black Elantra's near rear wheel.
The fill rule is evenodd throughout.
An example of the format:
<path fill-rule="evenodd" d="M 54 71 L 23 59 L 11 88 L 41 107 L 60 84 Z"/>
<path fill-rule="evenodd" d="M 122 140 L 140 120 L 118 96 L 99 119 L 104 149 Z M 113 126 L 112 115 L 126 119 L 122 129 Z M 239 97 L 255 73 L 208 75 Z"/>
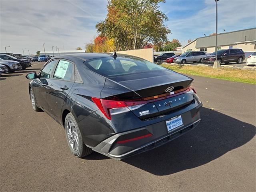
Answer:
<path fill-rule="evenodd" d="M 71 119 L 69 119 L 66 122 L 66 134 L 68 136 L 68 143 L 70 147 L 72 148 L 72 150 L 74 150 L 74 152 L 77 152 L 79 148 L 79 143 L 80 143 L 79 137 L 78 137 L 78 130 L 76 125 Z"/>

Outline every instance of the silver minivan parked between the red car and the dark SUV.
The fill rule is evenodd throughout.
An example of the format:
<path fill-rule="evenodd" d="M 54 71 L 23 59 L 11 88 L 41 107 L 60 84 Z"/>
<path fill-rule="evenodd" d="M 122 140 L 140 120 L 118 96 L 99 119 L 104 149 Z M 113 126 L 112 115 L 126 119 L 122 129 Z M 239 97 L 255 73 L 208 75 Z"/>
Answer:
<path fill-rule="evenodd" d="M 188 62 L 197 62 L 199 61 L 200 63 L 202 62 L 202 58 L 206 56 L 205 52 L 202 51 L 193 51 L 193 52 L 185 52 L 181 54 L 180 56 L 176 57 L 174 59 L 174 63 L 188 63 Z"/>

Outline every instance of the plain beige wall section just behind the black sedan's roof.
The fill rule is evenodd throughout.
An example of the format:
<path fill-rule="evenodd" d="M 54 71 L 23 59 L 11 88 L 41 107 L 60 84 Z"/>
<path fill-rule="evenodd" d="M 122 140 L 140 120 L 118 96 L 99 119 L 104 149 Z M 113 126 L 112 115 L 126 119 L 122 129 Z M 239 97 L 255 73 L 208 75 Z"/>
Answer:
<path fill-rule="evenodd" d="M 150 62 L 154 62 L 153 60 L 153 48 L 148 48 L 148 49 L 136 49 L 136 50 L 128 50 L 128 51 L 117 51 L 116 52 L 121 53 L 121 54 L 127 54 L 127 55 L 132 55 L 136 57 L 143 58 L 145 60 L 148 60 Z"/>

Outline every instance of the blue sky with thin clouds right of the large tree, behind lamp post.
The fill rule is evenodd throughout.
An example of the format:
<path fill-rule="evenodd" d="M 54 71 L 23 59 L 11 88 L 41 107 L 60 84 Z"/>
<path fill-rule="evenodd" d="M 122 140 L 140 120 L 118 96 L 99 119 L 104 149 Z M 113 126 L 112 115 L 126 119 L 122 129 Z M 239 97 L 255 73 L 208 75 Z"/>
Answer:
<path fill-rule="evenodd" d="M 172 34 L 169 36 L 171 39 L 188 40 L 215 32 L 215 2 L 204 0 L 194 1 L 194 4 L 202 8 L 199 10 L 191 8 L 176 17 L 170 15 L 167 25 L 172 30 Z M 220 0 L 218 2 L 218 32 L 224 32 L 223 29 L 229 32 L 255 27 L 255 7 L 255 0 Z M 186 14 L 186 17 L 184 18 L 182 14 Z"/>

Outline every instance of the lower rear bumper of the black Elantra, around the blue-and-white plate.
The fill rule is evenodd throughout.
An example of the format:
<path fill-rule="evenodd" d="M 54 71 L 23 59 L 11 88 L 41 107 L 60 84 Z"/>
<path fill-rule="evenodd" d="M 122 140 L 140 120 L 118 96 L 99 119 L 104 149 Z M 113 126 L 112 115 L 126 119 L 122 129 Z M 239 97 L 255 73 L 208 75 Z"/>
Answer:
<path fill-rule="evenodd" d="M 166 119 L 163 118 L 161 122 L 155 124 L 114 134 L 113 136 L 102 141 L 96 147 L 92 148 L 92 150 L 104 154 L 108 157 L 120 160 L 154 149 L 158 146 L 166 144 L 167 142 L 170 142 L 171 140 L 174 140 L 175 138 L 178 138 L 179 136 L 182 136 L 186 132 L 195 128 L 200 121 L 199 111 L 201 107 L 202 104 L 196 106 L 192 110 L 180 114 L 182 116 L 183 125 L 171 130 L 170 132 L 167 130 Z M 127 136 L 130 135 L 141 136 L 142 132 L 152 136 L 134 140 L 132 142 L 117 142 L 121 137 L 127 138 Z"/>

